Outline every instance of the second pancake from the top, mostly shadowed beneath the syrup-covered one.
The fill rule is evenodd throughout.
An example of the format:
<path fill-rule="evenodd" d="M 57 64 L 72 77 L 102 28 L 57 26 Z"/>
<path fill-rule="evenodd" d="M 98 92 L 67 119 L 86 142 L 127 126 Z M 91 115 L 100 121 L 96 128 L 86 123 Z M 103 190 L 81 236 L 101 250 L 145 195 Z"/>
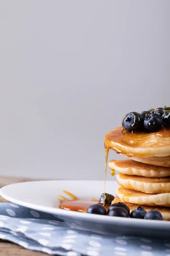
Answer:
<path fill-rule="evenodd" d="M 128 157 L 126 154 L 121 155 L 141 163 L 170 167 L 170 157 Z"/>

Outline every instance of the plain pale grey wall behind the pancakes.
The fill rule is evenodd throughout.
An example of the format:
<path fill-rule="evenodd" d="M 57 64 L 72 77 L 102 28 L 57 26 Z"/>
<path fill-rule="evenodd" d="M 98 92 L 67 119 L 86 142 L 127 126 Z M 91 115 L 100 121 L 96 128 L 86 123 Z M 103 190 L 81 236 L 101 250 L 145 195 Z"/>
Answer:
<path fill-rule="evenodd" d="M 0 175 L 103 179 L 104 135 L 129 111 L 170 105 L 169 10 L 0 0 Z"/>

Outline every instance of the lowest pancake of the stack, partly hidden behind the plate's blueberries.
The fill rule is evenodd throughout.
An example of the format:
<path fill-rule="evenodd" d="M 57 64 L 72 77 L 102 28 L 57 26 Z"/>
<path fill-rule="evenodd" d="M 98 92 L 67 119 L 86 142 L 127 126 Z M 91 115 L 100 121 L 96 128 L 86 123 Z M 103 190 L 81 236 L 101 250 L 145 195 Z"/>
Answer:
<path fill-rule="evenodd" d="M 119 202 L 123 202 L 123 201 L 120 200 L 120 198 L 118 196 L 116 196 L 114 198 L 114 200 L 112 201 L 112 204 L 119 203 Z M 161 215 L 163 216 L 164 221 L 170 221 L 170 208 L 169 207 L 154 207 L 154 206 L 146 206 L 146 205 L 139 205 L 139 204 L 128 204 L 128 203 L 125 203 L 125 204 L 129 207 L 130 212 L 133 211 L 134 209 L 138 208 L 139 206 L 141 206 L 147 212 L 150 211 L 150 210 L 157 210 L 157 211 L 161 212 Z"/>

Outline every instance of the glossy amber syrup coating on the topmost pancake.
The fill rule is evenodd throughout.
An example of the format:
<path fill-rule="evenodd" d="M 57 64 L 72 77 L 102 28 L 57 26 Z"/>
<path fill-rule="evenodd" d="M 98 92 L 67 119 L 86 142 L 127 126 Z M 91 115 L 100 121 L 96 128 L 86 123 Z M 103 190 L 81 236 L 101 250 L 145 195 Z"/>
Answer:
<path fill-rule="evenodd" d="M 105 149 L 113 149 L 118 154 L 126 154 L 128 157 L 138 156 L 138 157 L 148 157 L 148 154 L 142 152 L 135 152 L 134 149 L 142 148 L 147 149 L 148 143 L 151 148 L 159 147 L 170 147 L 170 138 L 166 141 L 164 138 L 170 137 L 170 127 L 163 127 L 160 131 L 154 133 L 146 132 L 135 132 L 129 133 L 127 131 L 122 132 L 122 127 L 118 127 L 113 131 L 108 132 L 104 138 Z M 153 138 L 155 141 L 152 142 Z M 126 152 L 128 149 L 128 153 Z M 130 153 L 130 151 L 132 153 Z"/>

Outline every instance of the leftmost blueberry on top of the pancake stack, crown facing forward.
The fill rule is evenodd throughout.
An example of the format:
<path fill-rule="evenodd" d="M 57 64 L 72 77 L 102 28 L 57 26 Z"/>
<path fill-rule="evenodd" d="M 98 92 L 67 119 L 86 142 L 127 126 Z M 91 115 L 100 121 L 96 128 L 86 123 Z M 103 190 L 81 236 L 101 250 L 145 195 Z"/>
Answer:
<path fill-rule="evenodd" d="M 132 112 L 124 116 L 122 126 L 128 132 L 142 131 L 144 118 L 140 113 Z"/>

